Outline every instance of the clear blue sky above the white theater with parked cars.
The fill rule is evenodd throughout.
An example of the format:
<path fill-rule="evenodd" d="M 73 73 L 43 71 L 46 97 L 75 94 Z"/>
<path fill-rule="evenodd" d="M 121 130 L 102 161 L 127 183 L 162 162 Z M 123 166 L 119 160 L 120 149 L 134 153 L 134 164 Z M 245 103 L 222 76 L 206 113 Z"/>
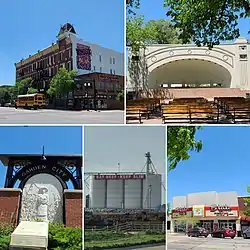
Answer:
<path fill-rule="evenodd" d="M 168 173 L 168 201 L 189 193 L 236 191 L 248 195 L 250 185 L 250 127 L 205 126 L 196 134 L 202 140 L 202 151 Z"/>

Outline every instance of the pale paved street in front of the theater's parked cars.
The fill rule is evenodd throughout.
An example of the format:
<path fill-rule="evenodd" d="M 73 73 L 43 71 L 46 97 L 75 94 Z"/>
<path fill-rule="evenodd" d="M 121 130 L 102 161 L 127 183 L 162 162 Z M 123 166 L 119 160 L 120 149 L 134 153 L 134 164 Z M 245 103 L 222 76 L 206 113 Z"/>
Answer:
<path fill-rule="evenodd" d="M 167 241 L 168 250 L 250 250 L 250 239 L 243 238 L 196 238 L 196 237 L 179 237 L 168 236 Z"/>

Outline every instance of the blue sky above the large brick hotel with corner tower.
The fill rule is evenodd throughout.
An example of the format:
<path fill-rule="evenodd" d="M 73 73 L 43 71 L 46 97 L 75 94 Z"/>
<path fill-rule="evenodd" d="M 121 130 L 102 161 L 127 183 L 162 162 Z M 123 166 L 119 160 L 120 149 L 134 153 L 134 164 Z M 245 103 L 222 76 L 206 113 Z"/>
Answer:
<path fill-rule="evenodd" d="M 124 51 L 123 0 L 1 0 L 0 85 L 13 85 L 14 63 L 55 42 L 67 22 L 81 39 Z"/>

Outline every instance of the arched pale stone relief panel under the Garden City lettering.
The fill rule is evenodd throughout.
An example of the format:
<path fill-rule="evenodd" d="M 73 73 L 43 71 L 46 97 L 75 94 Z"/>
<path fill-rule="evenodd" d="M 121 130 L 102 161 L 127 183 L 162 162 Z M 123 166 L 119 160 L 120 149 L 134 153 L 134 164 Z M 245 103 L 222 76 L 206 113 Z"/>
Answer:
<path fill-rule="evenodd" d="M 25 184 L 21 221 L 63 221 L 63 188 L 50 174 L 37 174 Z"/>

